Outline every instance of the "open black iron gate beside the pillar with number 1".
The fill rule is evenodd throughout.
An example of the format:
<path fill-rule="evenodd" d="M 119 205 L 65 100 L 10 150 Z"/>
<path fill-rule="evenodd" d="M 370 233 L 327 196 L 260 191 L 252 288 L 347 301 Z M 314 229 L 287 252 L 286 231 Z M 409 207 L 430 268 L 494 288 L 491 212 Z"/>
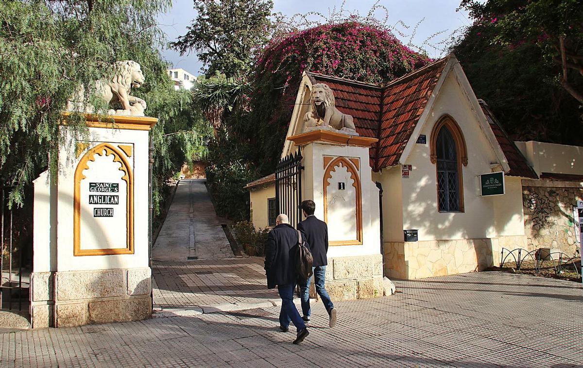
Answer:
<path fill-rule="evenodd" d="M 294 227 L 301 221 L 301 151 L 279 161 L 275 170 L 275 198 L 278 214 L 286 214 Z"/>

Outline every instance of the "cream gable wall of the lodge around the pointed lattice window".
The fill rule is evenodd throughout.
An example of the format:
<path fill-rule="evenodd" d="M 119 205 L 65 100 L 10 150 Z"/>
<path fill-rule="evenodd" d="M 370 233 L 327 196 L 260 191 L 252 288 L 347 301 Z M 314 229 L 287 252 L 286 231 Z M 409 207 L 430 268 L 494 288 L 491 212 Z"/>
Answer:
<path fill-rule="evenodd" d="M 468 149 L 468 166 L 462 165 L 464 213 L 439 213 L 437 210 L 436 165 L 430 161 L 429 140 L 433 126 L 444 114 L 458 123 Z M 519 180 L 507 180 L 504 196 L 480 196 L 479 175 L 491 172 L 491 164 L 499 162 L 454 73 L 445 79 L 420 134 L 426 135 L 427 144 L 415 144 L 405 162 L 412 165 L 409 178 L 401 179 L 402 229 L 418 229 L 420 241 L 524 234 Z M 385 193 L 395 186 L 395 176 L 401 176 L 400 168 L 398 170 L 393 175 L 380 176 Z M 388 229 L 385 239 L 402 241 L 402 229 L 397 232 L 394 224 L 388 224 L 385 229 Z"/>

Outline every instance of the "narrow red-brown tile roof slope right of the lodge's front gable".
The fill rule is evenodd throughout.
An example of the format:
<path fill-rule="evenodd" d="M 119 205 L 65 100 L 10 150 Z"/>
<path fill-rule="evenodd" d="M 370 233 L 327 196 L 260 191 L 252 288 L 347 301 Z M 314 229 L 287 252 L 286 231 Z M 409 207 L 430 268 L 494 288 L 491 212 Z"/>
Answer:
<path fill-rule="evenodd" d="M 518 149 L 516 144 L 514 144 L 514 141 L 508 137 L 507 133 L 504 132 L 504 129 L 490 110 L 488 104 L 483 100 L 478 101 L 480 102 L 480 107 L 482 107 L 484 115 L 486 115 L 486 119 L 490 123 L 490 128 L 492 129 L 492 132 L 494 132 L 498 144 L 500 144 L 500 148 L 502 148 L 506 161 L 508 161 L 508 166 L 510 166 L 510 171 L 507 172 L 506 175 L 538 179 L 536 172 L 532 169 L 531 165 L 528 164 L 528 161 L 526 161 L 522 152 Z"/>

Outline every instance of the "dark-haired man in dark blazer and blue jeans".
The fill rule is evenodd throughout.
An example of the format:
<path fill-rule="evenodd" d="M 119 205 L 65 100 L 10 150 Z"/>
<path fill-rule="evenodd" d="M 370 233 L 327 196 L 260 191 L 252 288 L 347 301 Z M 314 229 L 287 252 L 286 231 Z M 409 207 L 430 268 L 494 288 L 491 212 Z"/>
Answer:
<path fill-rule="evenodd" d="M 322 299 L 324 307 L 328 311 L 330 317 L 329 326 L 334 327 L 336 324 L 336 309 L 330 300 L 328 291 L 324 286 L 324 279 L 326 277 L 326 265 L 328 264 L 328 225 L 326 222 L 318 220 L 314 216 L 316 204 L 312 200 L 303 201 L 301 209 L 304 212 L 305 220 L 297 225 L 297 229 L 304 233 L 305 241 L 310 245 L 314 263 L 312 263 L 312 270 L 314 271 L 314 285 L 316 292 Z M 310 321 L 310 282 L 311 277 L 307 279 L 305 284 L 300 285 L 301 288 L 301 311 L 304 316 L 302 319 L 305 322 Z"/>

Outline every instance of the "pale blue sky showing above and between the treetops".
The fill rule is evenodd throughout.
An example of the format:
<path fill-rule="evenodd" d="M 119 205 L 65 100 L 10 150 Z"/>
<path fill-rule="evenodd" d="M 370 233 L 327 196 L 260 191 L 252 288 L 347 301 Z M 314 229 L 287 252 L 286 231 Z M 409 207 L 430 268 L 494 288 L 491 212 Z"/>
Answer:
<path fill-rule="evenodd" d="M 308 12 L 318 12 L 322 15 L 329 15 L 334 7 L 340 8 L 342 0 L 273 0 L 273 12 L 281 12 L 291 17 L 295 14 L 305 14 Z M 373 7 L 376 0 L 346 0 L 344 9 L 360 15 L 366 16 Z M 381 0 L 380 5 L 388 9 L 389 26 L 404 23 L 409 29 L 402 25 L 397 25 L 396 30 L 402 31 L 406 37 L 394 32 L 405 44 L 409 43 L 413 27 L 419 22 L 415 37 L 412 43 L 419 45 L 433 34 L 440 33 L 431 39 L 431 43 L 437 44 L 439 41 L 449 40 L 454 31 L 459 31 L 465 26 L 469 26 L 470 19 L 464 10 L 456 12 L 460 0 Z M 385 18 L 383 10 L 377 10 L 375 15 L 378 19 Z M 160 28 L 166 33 L 169 41 L 174 41 L 178 36 L 186 33 L 186 27 L 195 19 L 196 13 L 192 8 L 192 0 L 173 0 L 173 7 L 169 12 L 158 17 Z M 438 48 L 444 48 L 438 45 Z M 442 49 L 425 47 L 431 58 L 438 58 L 444 55 Z M 173 68 L 182 68 L 188 72 L 199 75 L 202 63 L 198 61 L 196 55 L 191 52 L 189 55 L 180 56 L 173 50 L 164 50 L 163 56 L 171 62 Z"/>

